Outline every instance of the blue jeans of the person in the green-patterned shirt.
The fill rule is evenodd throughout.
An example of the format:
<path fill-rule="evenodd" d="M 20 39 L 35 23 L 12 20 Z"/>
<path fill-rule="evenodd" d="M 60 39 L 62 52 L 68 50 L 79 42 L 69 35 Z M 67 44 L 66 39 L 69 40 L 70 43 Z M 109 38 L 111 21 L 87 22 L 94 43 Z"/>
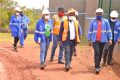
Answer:
<path fill-rule="evenodd" d="M 46 62 L 47 51 L 50 45 L 50 38 L 46 38 L 46 41 L 40 43 L 40 63 L 44 64 Z"/>

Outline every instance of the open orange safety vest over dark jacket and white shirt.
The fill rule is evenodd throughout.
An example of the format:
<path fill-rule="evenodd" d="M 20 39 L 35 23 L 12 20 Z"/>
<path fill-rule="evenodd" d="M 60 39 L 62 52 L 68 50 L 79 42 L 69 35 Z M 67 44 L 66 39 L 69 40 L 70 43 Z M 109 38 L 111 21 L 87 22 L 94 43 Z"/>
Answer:
<path fill-rule="evenodd" d="M 67 39 L 67 35 L 68 35 L 68 20 L 64 20 L 64 30 L 62 33 L 62 41 L 65 41 Z M 75 24 L 75 33 L 76 33 L 76 42 L 80 42 L 80 38 L 79 38 L 79 31 L 78 31 L 78 27 L 79 27 L 79 22 L 77 20 L 74 20 L 74 24 Z"/>

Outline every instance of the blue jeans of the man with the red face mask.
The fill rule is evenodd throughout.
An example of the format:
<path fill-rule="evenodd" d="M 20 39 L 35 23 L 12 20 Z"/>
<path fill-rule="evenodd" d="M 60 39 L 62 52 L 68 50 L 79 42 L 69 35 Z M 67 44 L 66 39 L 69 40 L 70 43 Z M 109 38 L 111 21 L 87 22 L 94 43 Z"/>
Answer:
<path fill-rule="evenodd" d="M 58 62 L 62 61 L 62 57 L 63 57 L 63 45 L 61 43 L 59 43 L 59 37 L 57 35 L 53 35 L 53 46 L 52 46 L 52 50 L 51 50 L 51 59 L 54 58 L 55 55 L 55 50 L 57 48 L 57 45 L 59 44 L 59 57 L 58 57 Z"/>

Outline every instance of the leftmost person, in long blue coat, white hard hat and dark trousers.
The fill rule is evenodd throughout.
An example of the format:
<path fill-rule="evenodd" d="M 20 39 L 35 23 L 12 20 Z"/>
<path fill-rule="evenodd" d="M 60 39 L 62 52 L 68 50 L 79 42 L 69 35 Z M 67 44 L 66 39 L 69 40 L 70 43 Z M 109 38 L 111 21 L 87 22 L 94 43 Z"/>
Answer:
<path fill-rule="evenodd" d="M 11 19 L 10 19 L 10 29 L 11 29 L 11 33 L 12 33 L 12 36 L 14 37 L 14 44 L 13 44 L 13 47 L 14 47 L 14 50 L 16 52 L 18 52 L 17 50 L 17 43 L 19 41 L 19 38 L 21 36 L 21 25 L 22 25 L 22 21 L 21 21 L 21 17 L 19 15 L 20 13 L 20 8 L 19 7 L 16 7 L 14 9 L 14 14 L 12 15 Z"/>

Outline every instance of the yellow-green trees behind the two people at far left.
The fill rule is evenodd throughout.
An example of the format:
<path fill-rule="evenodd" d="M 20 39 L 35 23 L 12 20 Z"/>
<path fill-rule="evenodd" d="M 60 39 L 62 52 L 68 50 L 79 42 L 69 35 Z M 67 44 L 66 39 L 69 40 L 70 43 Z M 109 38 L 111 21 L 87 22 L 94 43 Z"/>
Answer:
<path fill-rule="evenodd" d="M 10 17 L 14 14 L 16 6 L 19 4 L 13 0 L 0 0 L 0 28 L 8 28 Z M 21 9 L 30 18 L 29 29 L 34 30 L 37 20 L 41 17 L 41 10 L 27 9 L 24 6 Z"/>

